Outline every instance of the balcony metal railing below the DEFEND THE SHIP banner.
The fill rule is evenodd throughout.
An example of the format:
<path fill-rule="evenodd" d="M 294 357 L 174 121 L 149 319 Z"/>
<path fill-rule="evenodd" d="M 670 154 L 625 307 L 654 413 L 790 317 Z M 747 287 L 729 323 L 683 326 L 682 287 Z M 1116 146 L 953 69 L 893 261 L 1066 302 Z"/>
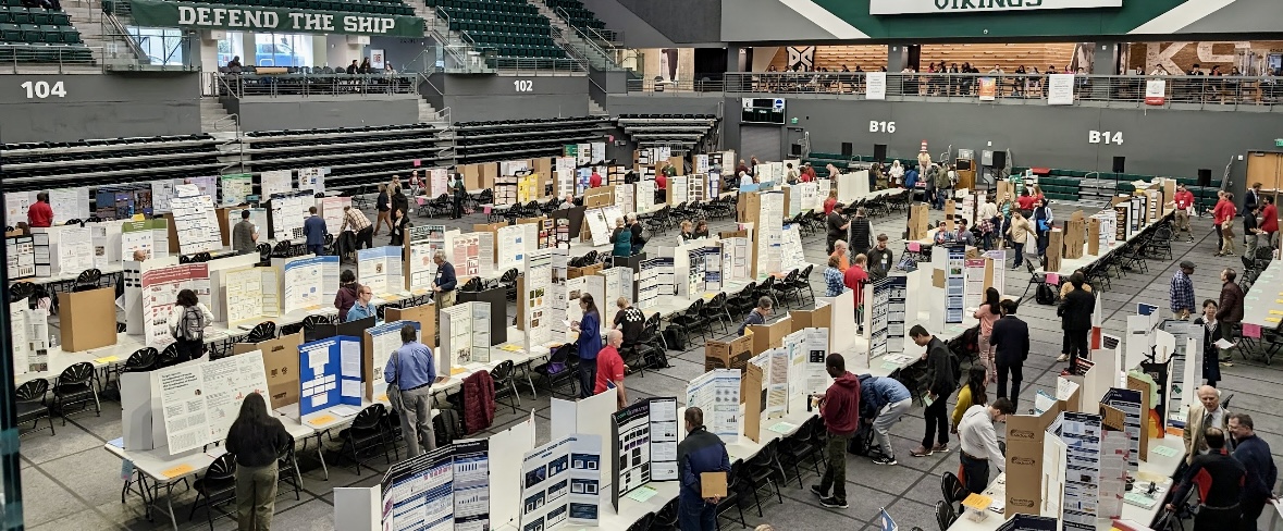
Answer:
<path fill-rule="evenodd" d="M 205 72 L 226 95 L 246 96 L 350 96 L 418 94 L 418 74 L 234 74 Z"/>

